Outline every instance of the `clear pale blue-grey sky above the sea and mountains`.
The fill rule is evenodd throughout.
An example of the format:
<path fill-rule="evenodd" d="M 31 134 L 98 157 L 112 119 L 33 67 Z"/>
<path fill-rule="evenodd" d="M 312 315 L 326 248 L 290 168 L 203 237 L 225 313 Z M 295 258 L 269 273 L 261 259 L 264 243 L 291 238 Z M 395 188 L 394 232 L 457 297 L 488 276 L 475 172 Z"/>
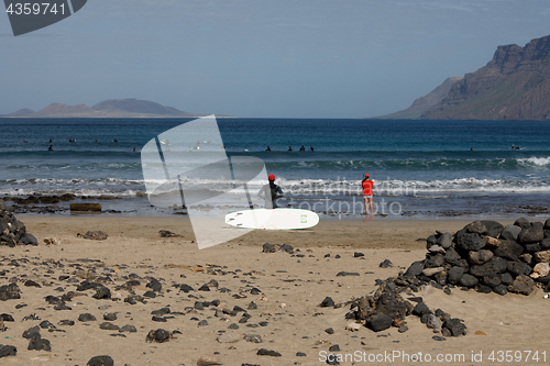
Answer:
<path fill-rule="evenodd" d="M 89 0 L 14 37 L 0 14 L 0 114 L 136 98 L 243 118 L 371 118 L 498 45 L 550 33 L 548 0 Z"/>

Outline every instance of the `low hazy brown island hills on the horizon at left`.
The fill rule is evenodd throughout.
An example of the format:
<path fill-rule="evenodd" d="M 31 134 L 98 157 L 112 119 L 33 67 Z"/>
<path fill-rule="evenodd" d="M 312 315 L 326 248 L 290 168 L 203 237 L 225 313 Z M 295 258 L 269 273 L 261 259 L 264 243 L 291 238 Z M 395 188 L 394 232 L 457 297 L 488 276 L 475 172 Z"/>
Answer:
<path fill-rule="evenodd" d="M 89 108 L 86 104 L 67 106 L 52 103 L 34 112 L 21 109 L 3 117 L 20 118 L 193 118 L 206 114 L 195 114 L 179 111 L 172 107 L 138 99 L 109 99 Z M 217 115 L 218 117 L 218 115 Z M 227 115 L 219 115 L 227 117 Z"/>

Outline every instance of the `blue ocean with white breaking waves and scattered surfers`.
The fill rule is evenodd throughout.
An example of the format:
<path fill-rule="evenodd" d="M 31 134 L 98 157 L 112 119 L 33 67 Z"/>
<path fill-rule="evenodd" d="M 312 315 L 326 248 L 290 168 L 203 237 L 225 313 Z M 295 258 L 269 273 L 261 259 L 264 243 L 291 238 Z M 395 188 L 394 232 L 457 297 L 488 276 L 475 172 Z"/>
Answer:
<path fill-rule="evenodd" d="M 148 202 L 140 151 L 188 121 L 0 119 L 0 197 L 74 193 L 76 201 L 101 198 L 118 214 L 182 213 Z M 285 192 L 279 206 L 308 208 L 321 219 L 364 214 L 365 173 L 380 218 L 550 215 L 548 122 L 235 118 L 218 125 L 229 156 L 261 158 L 277 177 Z M 263 184 L 251 181 L 249 190 L 255 195 Z M 246 206 L 235 197 L 209 209 Z"/>

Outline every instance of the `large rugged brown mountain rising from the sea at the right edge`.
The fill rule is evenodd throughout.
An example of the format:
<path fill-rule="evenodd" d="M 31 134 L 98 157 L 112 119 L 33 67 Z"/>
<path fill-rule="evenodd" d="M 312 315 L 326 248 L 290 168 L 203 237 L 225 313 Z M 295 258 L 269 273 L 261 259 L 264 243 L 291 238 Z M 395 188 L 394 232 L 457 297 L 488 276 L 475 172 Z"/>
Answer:
<path fill-rule="evenodd" d="M 550 35 L 525 47 L 498 46 L 487 65 L 466 74 L 421 118 L 550 120 Z"/>

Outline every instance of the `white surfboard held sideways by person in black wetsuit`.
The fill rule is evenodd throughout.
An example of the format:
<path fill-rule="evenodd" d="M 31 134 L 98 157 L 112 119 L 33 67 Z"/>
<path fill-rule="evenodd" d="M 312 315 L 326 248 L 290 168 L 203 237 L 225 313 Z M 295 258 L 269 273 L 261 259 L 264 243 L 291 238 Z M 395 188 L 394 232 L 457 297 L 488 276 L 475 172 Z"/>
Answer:
<path fill-rule="evenodd" d="M 319 215 L 301 209 L 255 209 L 228 213 L 226 223 L 243 229 L 296 230 L 314 228 Z"/>

